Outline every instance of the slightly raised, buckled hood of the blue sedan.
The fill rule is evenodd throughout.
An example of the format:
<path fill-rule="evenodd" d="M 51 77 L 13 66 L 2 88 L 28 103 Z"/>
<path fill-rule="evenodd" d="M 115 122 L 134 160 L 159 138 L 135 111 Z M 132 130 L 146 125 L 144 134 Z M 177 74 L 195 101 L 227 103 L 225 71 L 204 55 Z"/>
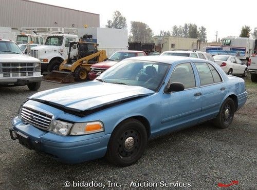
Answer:
<path fill-rule="evenodd" d="M 138 86 L 90 81 L 39 92 L 28 99 L 80 112 L 111 107 L 153 93 L 152 90 Z"/>

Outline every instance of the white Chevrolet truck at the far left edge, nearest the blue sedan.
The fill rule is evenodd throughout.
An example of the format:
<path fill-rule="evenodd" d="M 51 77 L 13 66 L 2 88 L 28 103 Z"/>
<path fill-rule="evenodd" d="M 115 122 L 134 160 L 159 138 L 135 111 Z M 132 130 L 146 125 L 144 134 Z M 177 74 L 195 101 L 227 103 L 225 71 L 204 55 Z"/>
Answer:
<path fill-rule="evenodd" d="M 0 38 L 0 87 L 27 85 L 35 91 L 42 78 L 38 59 L 24 55 L 14 41 Z"/>

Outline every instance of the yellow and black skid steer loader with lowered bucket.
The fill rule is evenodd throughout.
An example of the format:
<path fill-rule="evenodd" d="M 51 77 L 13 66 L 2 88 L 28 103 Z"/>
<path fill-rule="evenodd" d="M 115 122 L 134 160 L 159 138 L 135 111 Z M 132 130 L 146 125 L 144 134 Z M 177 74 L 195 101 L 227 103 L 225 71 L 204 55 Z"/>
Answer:
<path fill-rule="evenodd" d="M 59 67 L 44 77 L 44 80 L 57 83 L 85 81 L 90 66 L 107 59 L 105 50 L 98 50 L 98 44 L 85 41 L 69 43 L 68 58 Z"/>

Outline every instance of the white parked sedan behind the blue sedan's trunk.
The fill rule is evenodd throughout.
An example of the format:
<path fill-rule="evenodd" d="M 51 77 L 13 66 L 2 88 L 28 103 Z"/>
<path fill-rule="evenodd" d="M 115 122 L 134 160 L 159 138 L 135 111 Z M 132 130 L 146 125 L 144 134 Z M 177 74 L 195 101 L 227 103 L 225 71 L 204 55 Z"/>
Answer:
<path fill-rule="evenodd" d="M 217 65 L 228 75 L 242 75 L 246 77 L 247 66 L 237 57 L 231 55 L 213 56 Z"/>

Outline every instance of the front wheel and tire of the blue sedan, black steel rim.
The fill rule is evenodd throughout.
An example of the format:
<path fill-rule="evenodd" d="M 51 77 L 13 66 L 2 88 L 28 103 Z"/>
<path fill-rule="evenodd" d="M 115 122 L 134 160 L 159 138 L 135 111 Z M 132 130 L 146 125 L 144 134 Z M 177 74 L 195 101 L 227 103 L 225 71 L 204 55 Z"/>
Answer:
<path fill-rule="evenodd" d="M 142 157 L 147 141 L 144 125 L 136 119 L 127 119 L 113 131 L 106 158 L 117 166 L 132 165 Z"/>

